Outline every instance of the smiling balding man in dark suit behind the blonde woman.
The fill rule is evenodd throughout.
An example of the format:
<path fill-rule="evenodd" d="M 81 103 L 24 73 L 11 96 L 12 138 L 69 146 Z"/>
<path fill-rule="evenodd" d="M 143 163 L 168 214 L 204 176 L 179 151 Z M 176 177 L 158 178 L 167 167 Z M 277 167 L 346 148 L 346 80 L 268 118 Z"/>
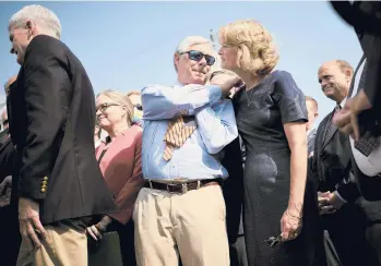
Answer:
<path fill-rule="evenodd" d="M 378 262 L 366 241 L 367 217 L 356 204 L 360 194 L 350 174 L 349 142 L 332 123 L 332 118 L 345 104 L 353 72 L 343 60 L 325 62 L 319 69 L 321 88 L 336 107 L 318 128 L 312 172 L 319 182 L 322 221 L 342 264 L 370 266 Z"/>

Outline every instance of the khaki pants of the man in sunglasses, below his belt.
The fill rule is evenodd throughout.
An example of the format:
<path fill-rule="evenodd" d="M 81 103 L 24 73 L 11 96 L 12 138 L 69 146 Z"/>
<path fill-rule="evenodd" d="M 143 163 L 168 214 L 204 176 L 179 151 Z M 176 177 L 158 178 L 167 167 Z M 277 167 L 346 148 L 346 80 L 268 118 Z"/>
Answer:
<path fill-rule="evenodd" d="M 229 266 L 225 202 L 219 185 L 184 194 L 142 189 L 136 198 L 139 266 Z"/>

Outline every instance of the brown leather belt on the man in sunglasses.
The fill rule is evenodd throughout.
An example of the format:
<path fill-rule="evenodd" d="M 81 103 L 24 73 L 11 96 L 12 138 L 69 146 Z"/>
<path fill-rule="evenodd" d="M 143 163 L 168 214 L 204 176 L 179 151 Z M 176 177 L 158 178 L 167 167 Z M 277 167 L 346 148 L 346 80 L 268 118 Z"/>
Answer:
<path fill-rule="evenodd" d="M 206 180 L 199 180 L 199 181 L 191 181 L 186 183 L 159 183 L 152 180 L 148 180 L 148 182 L 145 183 L 145 188 L 150 188 L 152 190 L 159 190 L 159 191 L 167 191 L 169 193 L 179 193 L 183 194 L 188 191 L 199 190 L 203 186 L 207 185 L 219 185 L 221 180 L 219 179 L 206 179 Z"/>

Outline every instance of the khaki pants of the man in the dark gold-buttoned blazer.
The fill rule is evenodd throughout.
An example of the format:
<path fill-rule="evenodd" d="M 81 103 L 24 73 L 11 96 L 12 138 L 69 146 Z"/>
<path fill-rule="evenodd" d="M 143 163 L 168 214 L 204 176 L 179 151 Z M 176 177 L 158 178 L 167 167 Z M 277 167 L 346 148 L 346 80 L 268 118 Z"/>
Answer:
<path fill-rule="evenodd" d="M 47 239 L 37 252 L 21 243 L 17 266 L 87 266 L 87 237 L 82 219 L 45 225 Z"/>

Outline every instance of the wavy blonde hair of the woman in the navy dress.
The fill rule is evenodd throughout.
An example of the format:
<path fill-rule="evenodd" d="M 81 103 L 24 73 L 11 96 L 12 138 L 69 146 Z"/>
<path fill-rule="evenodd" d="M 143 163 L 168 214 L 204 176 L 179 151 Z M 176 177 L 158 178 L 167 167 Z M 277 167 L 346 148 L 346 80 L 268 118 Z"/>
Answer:
<path fill-rule="evenodd" d="M 219 43 L 237 47 L 238 68 L 253 75 L 270 74 L 279 61 L 271 34 L 253 20 L 240 20 L 222 27 Z"/>

